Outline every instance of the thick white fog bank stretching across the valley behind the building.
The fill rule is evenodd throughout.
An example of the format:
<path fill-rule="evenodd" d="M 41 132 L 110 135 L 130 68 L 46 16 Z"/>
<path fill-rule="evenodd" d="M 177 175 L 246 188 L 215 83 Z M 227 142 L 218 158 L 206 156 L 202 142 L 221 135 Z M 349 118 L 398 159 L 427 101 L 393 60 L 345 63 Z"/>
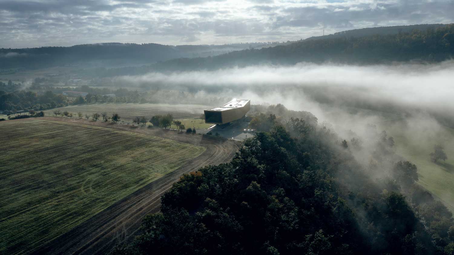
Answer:
<path fill-rule="evenodd" d="M 251 99 L 253 104 L 282 103 L 289 109 L 311 111 L 331 122 L 332 117 L 341 117 L 339 109 L 348 113 L 342 117 L 344 121 L 351 122 L 349 116 L 356 116 L 359 108 L 361 113 L 378 111 L 386 118 L 430 114 L 452 126 L 453 68 L 454 60 L 373 66 L 301 63 L 292 67 L 122 76 L 114 78 L 114 84 L 191 93 L 192 100 L 201 101 L 193 103 L 234 97 Z M 365 118 L 370 118 L 367 115 Z"/>

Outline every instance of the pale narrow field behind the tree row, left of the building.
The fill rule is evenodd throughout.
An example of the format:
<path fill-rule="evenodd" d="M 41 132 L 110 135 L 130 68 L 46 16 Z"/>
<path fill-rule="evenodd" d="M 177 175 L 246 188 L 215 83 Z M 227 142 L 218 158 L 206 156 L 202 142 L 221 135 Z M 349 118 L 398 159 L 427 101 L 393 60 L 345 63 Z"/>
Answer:
<path fill-rule="evenodd" d="M 199 118 L 204 109 L 210 106 L 199 104 L 166 104 L 166 103 L 91 103 L 72 105 L 62 108 L 56 108 L 63 111 L 73 113 L 77 117 L 77 113 L 84 114 L 93 113 L 108 113 L 112 116 L 113 113 L 118 113 L 121 120 L 132 124 L 132 120 L 136 116 L 145 116 L 150 119 L 153 115 L 172 113 L 175 119 L 193 119 Z M 52 114 L 54 110 L 45 111 L 46 114 Z"/>

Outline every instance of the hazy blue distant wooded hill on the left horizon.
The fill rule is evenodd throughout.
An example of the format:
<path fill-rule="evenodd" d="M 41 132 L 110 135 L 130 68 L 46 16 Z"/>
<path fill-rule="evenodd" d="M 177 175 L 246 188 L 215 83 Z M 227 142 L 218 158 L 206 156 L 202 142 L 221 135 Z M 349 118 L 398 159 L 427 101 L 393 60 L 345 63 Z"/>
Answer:
<path fill-rule="evenodd" d="M 162 44 L 81 44 L 71 47 L 0 49 L 0 69 L 39 69 L 62 65 L 111 66 L 151 64 L 176 58 L 206 57 L 248 49 L 262 44 L 162 45 Z"/>

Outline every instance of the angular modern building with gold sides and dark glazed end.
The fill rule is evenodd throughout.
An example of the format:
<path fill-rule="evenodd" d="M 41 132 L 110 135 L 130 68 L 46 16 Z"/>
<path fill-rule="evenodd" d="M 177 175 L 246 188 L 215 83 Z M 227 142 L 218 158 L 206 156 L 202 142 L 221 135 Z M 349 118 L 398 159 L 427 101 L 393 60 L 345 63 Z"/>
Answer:
<path fill-rule="evenodd" d="M 243 118 L 250 109 L 250 100 L 233 99 L 222 106 L 204 110 L 205 123 L 219 125 L 226 124 Z"/>

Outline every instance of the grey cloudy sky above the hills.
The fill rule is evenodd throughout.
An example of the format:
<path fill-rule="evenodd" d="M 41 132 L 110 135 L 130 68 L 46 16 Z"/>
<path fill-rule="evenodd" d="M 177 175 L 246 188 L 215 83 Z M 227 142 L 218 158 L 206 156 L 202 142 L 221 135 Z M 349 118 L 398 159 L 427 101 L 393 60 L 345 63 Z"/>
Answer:
<path fill-rule="evenodd" d="M 0 0 L 0 48 L 286 41 L 453 21 L 454 0 Z"/>

